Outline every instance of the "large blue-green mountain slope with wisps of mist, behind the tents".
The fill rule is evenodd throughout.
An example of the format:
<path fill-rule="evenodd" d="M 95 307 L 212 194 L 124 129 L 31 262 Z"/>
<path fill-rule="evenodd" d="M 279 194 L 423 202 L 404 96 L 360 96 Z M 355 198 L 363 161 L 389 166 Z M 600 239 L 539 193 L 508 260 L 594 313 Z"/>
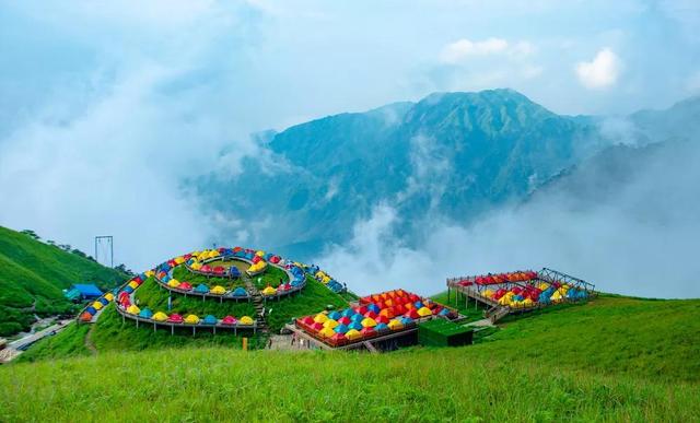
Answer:
<path fill-rule="evenodd" d="M 512 90 L 436 93 L 298 125 L 266 144 L 275 166 L 248 157 L 242 174 L 198 186 L 238 237 L 307 258 L 382 203 L 398 213 L 396 233 L 419 243 L 425 220 L 472 221 L 604 144 L 585 119 Z"/>

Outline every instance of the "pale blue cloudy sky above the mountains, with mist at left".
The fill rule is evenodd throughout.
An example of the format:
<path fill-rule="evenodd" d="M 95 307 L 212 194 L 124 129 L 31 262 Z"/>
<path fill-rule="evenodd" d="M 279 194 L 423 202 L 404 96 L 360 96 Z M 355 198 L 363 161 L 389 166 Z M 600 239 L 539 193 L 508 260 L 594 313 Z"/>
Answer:
<path fill-rule="evenodd" d="M 141 268 L 215 232 L 178 180 L 255 154 L 252 131 L 503 86 L 562 114 L 667 107 L 700 93 L 697 4 L 0 1 L 0 224 L 119 234 Z"/>

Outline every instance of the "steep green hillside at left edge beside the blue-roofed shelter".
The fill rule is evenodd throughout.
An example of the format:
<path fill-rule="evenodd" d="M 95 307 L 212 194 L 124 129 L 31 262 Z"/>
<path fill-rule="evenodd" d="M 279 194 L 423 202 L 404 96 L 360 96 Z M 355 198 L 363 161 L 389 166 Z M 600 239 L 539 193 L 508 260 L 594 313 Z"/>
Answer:
<path fill-rule="evenodd" d="M 120 272 L 0 226 L 0 336 L 28 329 L 34 314 L 72 313 L 61 290 L 73 283 L 104 289 L 124 280 Z"/>

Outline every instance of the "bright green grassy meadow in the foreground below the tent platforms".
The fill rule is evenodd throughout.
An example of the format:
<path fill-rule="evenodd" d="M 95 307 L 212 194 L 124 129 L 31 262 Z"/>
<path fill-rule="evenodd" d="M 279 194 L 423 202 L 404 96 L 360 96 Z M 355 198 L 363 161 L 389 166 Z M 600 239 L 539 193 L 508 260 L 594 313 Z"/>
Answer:
<path fill-rule="evenodd" d="M 700 301 L 602 296 L 502 326 L 378 355 L 175 348 L 148 329 L 128 352 L 97 337 L 91 355 L 88 329 L 69 328 L 0 368 L 0 421 L 700 419 Z"/>

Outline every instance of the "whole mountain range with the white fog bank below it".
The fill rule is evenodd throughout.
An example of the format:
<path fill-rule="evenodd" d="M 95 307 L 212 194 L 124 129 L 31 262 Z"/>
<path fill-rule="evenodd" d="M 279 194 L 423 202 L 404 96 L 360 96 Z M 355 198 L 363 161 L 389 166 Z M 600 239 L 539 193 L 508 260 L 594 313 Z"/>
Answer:
<path fill-rule="evenodd" d="M 433 94 L 267 133 L 265 161 L 199 186 L 234 222 L 224 233 L 273 239 L 360 292 L 547 266 L 697 296 L 698 103 L 567 117 L 510 90 Z"/>

